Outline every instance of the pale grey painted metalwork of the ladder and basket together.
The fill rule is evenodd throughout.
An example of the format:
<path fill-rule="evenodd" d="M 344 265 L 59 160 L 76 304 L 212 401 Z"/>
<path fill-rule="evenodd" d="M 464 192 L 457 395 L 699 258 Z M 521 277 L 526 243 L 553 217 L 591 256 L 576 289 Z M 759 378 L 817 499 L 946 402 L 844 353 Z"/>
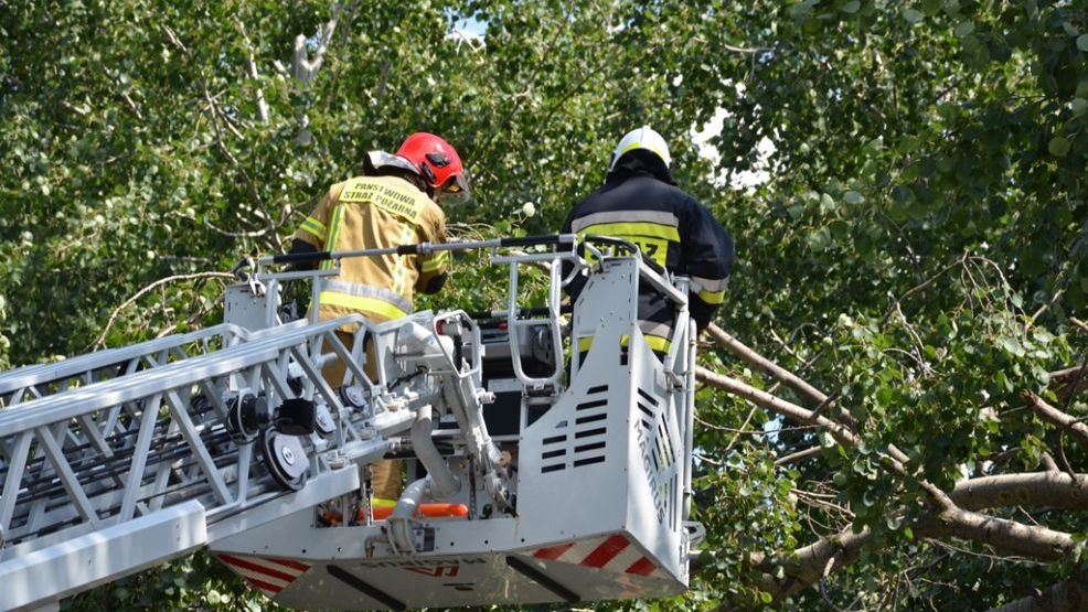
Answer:
<path fill-rule="evenodd" d="M 356 587 L 370 571 L 415 579 L 412 572 L 386 572 L 398 567 L 397 559 L 489 559 L 476 568 L 484 571 L 481 583 L 488 589 L 520 584 L 516 599 L 526 603 L 663 595 L 685 588 L 695 352 L 686 279 L 653 272 L 637 251 L 629 257 L 596 251 L 595 273 L 575 304 L 569 337 L 576 346 L 579 337 L 591 336 L 594 345 L 585 363 L 578 363 L 577 352 L 572 355 L 567 376 L 559 290 L 569 279 L 562 278 L 561 264 L 587 268 L 574 243 L 523 255 L 500 254 L 502 240 L 465 245 L 491 248 L 494 262 L 511 267 L 502 314 L 523 397 L 516 471 L 500 458 L 483 421 L 482 405 L 493 395 L 482 388 L 480 331 L 463 312 L 423 312 L 376 325 L 361 316 L 281 324 L 279 282 L 307 275 L 268 273 L 262 260 L 231 298 L 234 322 L 245 326 L 226 323 L 0 375 L 0 400 L 8 405 L 0 409 L 0 583 L 34 581 L 11 590 L 8 599 L 0 595 L 0 609 L 55 601 L 200 546 L 328 562 L 329 572 L 343 572 L 341 582 Z M 469 248 L 465 245 L 426 248 Z M 542 261 L 551 266 L 546 315 L 522 316 L 519 267 Z M 637 324 L 640 283 L 678 307 L 663 362 L 646 346 Z M 467 351 L 466 362 L 438 323 L 463 333 L 456 342 Z M 345 324 L 360 328 L 351 346 L 335 333 Z M 520 331 L 542 326 L 556 350 L 556 368 L 527 376 Z M 367 337 L 377 356 L 376 380 L 364 374 Z M 344 383 L 360 387 L 364 405 L 345 405 L 323 379 L 321 369 L 332 359 L 345 363 Z M 230 401 L 247 395 L 263 397 L 269 411 L 285 399 L 310 399 L 333 419 L 332 434 L 301 438 L 310 474 L 301 491 L 277 486 L 254 457 L 254 442 L 226 428 Z M 527 425 L 530 398 L 540 406 L 542 397 L 550 408 Z M 427 434 L 431 408 L 456 417 L 457 429 Z M 434 441 L 451 444 L 452 454 L 437 454 Z M 358 523 L 351 504 L 367 497 L 367 463 L 390 451 L 413 450 L 427 458 L 436 476 L 447 469 L 449 475 L 444 487 L 424 481 L 409 486 L 415 497 L 406 493 L 390 523 L 399 534 L 394 540 L 394 529 L 370 516 Z M 467 503 L 469 520 L 412 518 L 414 504 L 428 498 L 428 491 L 455 491 L 450 482 L 463 483 L 447 501 Z M 516 517 L 502 512 L 513 495 Z M 339 528 L 314 520 L 327 501 L 342 508 Z M 406 511 L 403 504 L 409 504 Z M 492 505 L 498 512 L 487 509 Z M 657 573 L 641 581 L 628 577 L 620 588 L 614 577 L 534 555 L 542 546 L 588 546 L 609 537 L 622 537 Z M 87 558 L 97 561 L 84 565 Z M 351 559 L 361 563 L 354 570 L 333 567 Z M 306 586 L 311 578 L 318 580 L 314 588 Z M 344 603 L 344 589 L 322 594 L 329 584 L 324 575 L 311 578 L 300 578 L 296 594 L 288 591 L 279 601 L 360 605 Z M 390 589 L 399 588 L 414 605 L 509 601 L 509 593 L 498 591 L 442 599 L 442 591 L 413 584 Z M 391 601 L 363 605 L 391 606 Z"/>

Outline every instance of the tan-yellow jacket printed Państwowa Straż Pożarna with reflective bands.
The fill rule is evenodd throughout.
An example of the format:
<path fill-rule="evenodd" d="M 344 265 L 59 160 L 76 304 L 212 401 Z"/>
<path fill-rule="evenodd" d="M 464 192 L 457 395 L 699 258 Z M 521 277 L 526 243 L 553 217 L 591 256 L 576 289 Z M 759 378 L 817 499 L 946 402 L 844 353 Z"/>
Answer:
<path fill-rule="evenodd" d="M 318 198 L 310 216 L 295 233 L 318 250 L 388 248 L 446 241 L 446 216 L 427 194 L 393 175 L 358 176 L 337 183 Z M 359 312 L 374 322 L 412 312 L 415 291 L 441 288 L 449 251 L 434 255 L 348 257 L 340 275 L 321 280 L 321 321 Z M 332 261 L 324 261 L 323 269 Z M 358 325 L 344 331 L 353 332 Z"/>

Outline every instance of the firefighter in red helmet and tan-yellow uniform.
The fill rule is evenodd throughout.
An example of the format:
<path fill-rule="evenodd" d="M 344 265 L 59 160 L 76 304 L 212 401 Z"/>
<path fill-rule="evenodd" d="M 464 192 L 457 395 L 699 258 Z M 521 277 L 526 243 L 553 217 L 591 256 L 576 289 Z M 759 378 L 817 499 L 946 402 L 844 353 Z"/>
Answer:
<path fill-rule="evenodd" d="M 295 233 L 291 253 L 446 241 L 446 216 L 439 204 L 469 190 L 461 159 L 448 142 L 416 132 L 395 154 L 367 153 L 364 167 L 362 176 L 337 183 L 317 198 Z M 328 321 L 361 313 L 375 323 L 406 316 L 416 291 L 436 293 L 445 284 L 448 260 L 449 251 L 344 258 L 340 275 L 322 280 L 318 316 Z M 339 330 L 341 341 L 350 346 L 349 334 L 358 328 Z M 322 374 L 335 388 L 343 384 L 344 371 L 343 362 L 335 359 Z M 375 464 L 373 486 L 375 505 L 394 505 L 401 496 L 399 462 Z"/>

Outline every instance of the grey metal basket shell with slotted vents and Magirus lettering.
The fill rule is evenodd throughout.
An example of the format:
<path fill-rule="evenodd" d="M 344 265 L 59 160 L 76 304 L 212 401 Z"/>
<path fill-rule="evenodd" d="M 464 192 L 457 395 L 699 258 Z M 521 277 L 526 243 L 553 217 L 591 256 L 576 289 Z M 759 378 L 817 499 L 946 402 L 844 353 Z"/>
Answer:
<path fill-rule="evenodd" d="M 686 281 L 676 279 L 673 286 L 637 256 L 598 261 L 575 304 L 570 333 L 575 344 L 578 336 L 594 337 L 593 348 L 570 376 L 569 388 L 557 385 L 552 406 L 527 427 L 526 397 L 541 382 L 518 377 L 523 404 L 513 483 L 516 516 L 489 513 L 474 503 L 488 498 L 477 482 L 440 500 L 467 504 L 469 518 L 412 522 L 416 539 L 409 549 L 391 546 L 383 523 L 321 526 L 312 514 L 299 512 L 220 540 L 213 551 L 312 566 L 276 594 L 281 604 L 307 609 L 524 604 L 682 592 L 691 549 L 686 519 L 695 350 Z M 516 256 L 505 262 L 525 264 Z M 512 288 L 516 278 L 511 275 Z M 550 279 L 554 283 L 557 277 Z M 664 362 L 646 345 L 637 324 L 640 280 L 669 283 L 666 294 L 678 302 L 673 350 Z M 513 316 L 522 310 L 518 305 L 509 301 L 504 314 Z M 510 334 L 512 342 L 516 335 Z M 511 351 L 512 358 L 516 354 Z M 458 443 L 460 432 L 439 434 L 455 442 L 447 455 L 454 473 L 471 482 L 472 461 Z M 622 563 L 606 571 L 537 555 L 541 547 L 591 551 L 612 538 L 626 543 L 628 558 L 641 556 L 653 571 L 623 573 L 628 566 Z"/>

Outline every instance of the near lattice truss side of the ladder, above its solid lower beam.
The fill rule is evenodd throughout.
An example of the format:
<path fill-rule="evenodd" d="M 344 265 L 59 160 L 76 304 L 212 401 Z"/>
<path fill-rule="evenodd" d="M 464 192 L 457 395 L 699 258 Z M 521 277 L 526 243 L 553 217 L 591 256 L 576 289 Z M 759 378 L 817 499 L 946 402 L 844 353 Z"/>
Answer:
<path fill-rule="evenodd" d="M 324 386 L 321 393 L 331 396 L 313 365 L 311 347 L 334 339 L 332 332 L 346 319 L 352 318 L 280 326 L 274 334 L 238 334 L 239 342 L 227 348 L 0 410 L 0 451 L 7 461 L 0 474 L 0 533 L 9 545 L 52 532 L 88 533 L 191 498 L 214 514 L 266 491 L 267 483 L 248 479 L 252 444 L 235 445 L 225 432 L 226 383 L 241 375 L 255 385 L 253 393 L 264 391 L 270 401 L 294 397 L 286 367 L 294 358 L 309 362 L 303 367 L 308 393 Z M 162 345 L 154 348 L 161 351 Z M 195 388 L 213 406 L 194 420 Z M 145 418 L 151 415 L 153 419 Z M 117 429 L 104 432 L 104 427 Z M 156 449 L 154 443 L 164 440 L 173 445 Z M 157 450 L 175 454 L 156 457 Z M 98 473 L 92 473 L 96 469 Z M 28 487 L 30 479 L 38 479 L 38 495 Z M 47 494 L 42 494 L 43 482 Z M 13 523 L 17 517 L 20 523 Z"/>

